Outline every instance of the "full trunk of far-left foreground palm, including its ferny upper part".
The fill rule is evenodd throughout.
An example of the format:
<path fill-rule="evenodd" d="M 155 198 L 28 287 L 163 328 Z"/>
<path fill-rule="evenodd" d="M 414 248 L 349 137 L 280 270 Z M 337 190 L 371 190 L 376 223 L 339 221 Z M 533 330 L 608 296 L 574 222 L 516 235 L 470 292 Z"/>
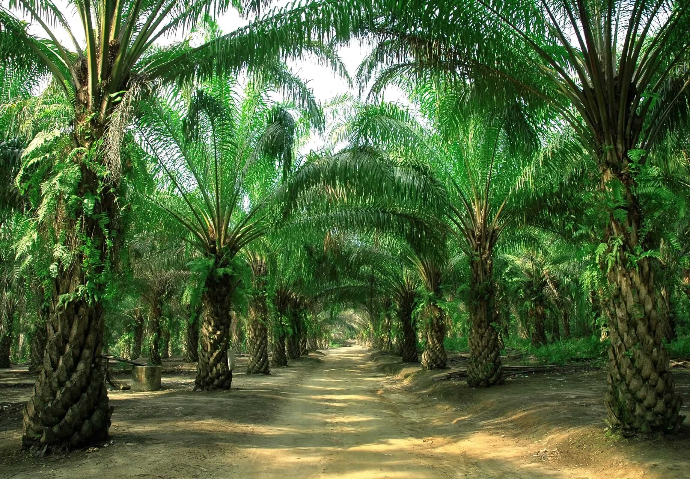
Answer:
<path fill-rule="evenodd" d="M 105 128 L 88 123 L 91 115 L 79 108 L 77 118 L 77 145 L 90 150 L 92 141 L 102 138 Z M 103 288 L 94 282 L 94 275 L 103 272 L 110 263 L 109 244 L 118 238 L 119 206 L 115 204 L 115 187 L 101 181 L 90 167 L 81 163 L 75 192 L 83 198 L 97 198 L 94 211 L 78 215 L 78 219 L 65 218 L 62 209 L 57 214 L 56 221 L 61 222 L 63 230 L 76 231 L 77 237 L 88 238 L 88 256 L 77 249 L 72 265 L 66 271 L 61 270 L 52 282 L 56 303 L 63 295 L 74 299 L 61 301 L 51 308 L 43 369 L 23 409 L 22 442 L 26 448 L 83 447 L 108 438 L 113 408 L 108 406 L 101 358 L 103 304 L 100 299 L 85 297 L 82 288 L 87 283 Z M 108 222 L 108 238 L 101 230 L 103 218 Z"/>

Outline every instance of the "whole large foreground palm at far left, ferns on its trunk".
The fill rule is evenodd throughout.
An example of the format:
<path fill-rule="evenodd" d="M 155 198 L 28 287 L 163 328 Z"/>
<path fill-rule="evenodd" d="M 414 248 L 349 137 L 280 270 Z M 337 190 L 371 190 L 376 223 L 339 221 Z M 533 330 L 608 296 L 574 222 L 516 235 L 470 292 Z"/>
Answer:
<path fill-rule="evenodd" d="M 32 181 L 38 185 L 43 181 L 39 176 L 47 173 L 54 185 L 43 198 L 38 219 L 58 228 L 54 235 L 56 248 L 65 250 L 54 262 L 58 272 L 52 276 L 56 306 L 50 322 L 56 331 L 59 324 L 67 321 L 74 325 L 68 329 L 83 332 L 72 344 L 82 351 L 81 362 L 72 364 L 65 356 L 61 364 L 71 365 L 67 371 L 70 381 L 91 385 L 84 386 L 83 391 L 92 396 L 87 402 L 79 402 L 79 407 L 86 408 L 83 414 L 43 414 L 46 408 L 70 411 L 81 397 L 76 390 L 74 394 L 66 393 L 72 383 L 58 381 L 50 385 L 55 376 L 55 371 L 50 371 L 26 409 L 26 447 L 39 442 L 47 447 L 92 444 L 108 434 L 112 409 L 108 407 L 107 391 L 101 386 L 102 303 L 112 294 L 108 285 L 112 285 L 111 265 L 117 258 L 113 247 L 117 247 L 124 234 L 118 189 L 129 166 L 121 157 L 121 146 L 128 136 L 127 126 L 137 101 L 161 83 L 188 83 L 220 70 L 262 70 L 279 56 L 313 53 L 319 58 L 334 58 L 332 49 L 311 40 L 311 28 L 303 27 L 303 34 L 297 37 L 295 28 L 284 28 L 276 38 L 269 35 L 275 23 L 268 19 L 257 21 L 254 28 L 226 35 L 217 35 L 217 30 L 211 28 L 215 36 L 198 46 L 191 45 L 190 37 L 164 48 L 157 45 L 168 36 L 185 37 L 208 14 L 222 14 L 237 3 L 98 0 L 69 4 L 79 16 L 77 29 L 70 27 L 51 0 L 12 0 L 9 8 L 0 10 L 0 57 L 12 68 L 48 72 L 72 110 L 71 128 L 61 125 L 59 133 L 51 138 L 61 140 L 60 154 L 52 159 L 53 163 L 42 161 L 48 167 L 35 172 Z M 247 13 L 264 5 L 250 2 Z M 317 13 L 314 8 L 305 11 L 312 16 Z M 274 13 L 285 17 L 280 15 L 284 12 Z M 31 34 L 29 23 L 17 15 L 30 19 L 42 34 Z M 302 15 L 296 12 L 294 19 L 304 23 Z M 70 45 L 59 41 L 56 28 L 66 32 Z M 337 61 L 333 65 L 334 71 L 344 72 Z M 26 162 L 35 163 L 37 158 L 29 156 Z M 63 202 L 64 197 L 75 201 Z M 60 221 L 54 222 L 55 218 Z M 48 341 L 53 352 L 66 347 L 66 343 L 52 336 Z M 52 367 L 57 367 L 57 363 Z"/>

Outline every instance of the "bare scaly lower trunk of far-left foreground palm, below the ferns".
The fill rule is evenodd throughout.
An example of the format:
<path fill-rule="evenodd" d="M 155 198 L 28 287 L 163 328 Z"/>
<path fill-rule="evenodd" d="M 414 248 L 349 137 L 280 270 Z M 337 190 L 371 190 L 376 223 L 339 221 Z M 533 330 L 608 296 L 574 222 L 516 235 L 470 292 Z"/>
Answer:
<path fill-rule="evenodd" d="M 78 263 L 75 263 L 78 264 Z M 57 294 L 83 284 L 79 267 L 55 281 Z M 86 299 L 53 310 L 43 369 L 23 409 L 24 447 L 84 447 L 108 438 L 103 347 L 103 307 Z"/>

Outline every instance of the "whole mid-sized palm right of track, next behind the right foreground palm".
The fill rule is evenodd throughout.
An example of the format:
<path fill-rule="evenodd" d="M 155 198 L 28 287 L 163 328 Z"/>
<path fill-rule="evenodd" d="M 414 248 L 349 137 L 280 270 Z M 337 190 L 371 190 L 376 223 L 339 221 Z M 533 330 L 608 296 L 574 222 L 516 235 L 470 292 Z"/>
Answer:
<path fill-rule="evenodd" d="M 470 261 L 468 382 L 490 386 L 503 381 L 501 345 L 493 327 L 498 322 L 493 249 L 518 213 L 541 207 L 538 200 L 544 192 L 516 194 L 536 146 L 534 125 L 524 121 L 525 112 L 519 106 L 489 110 L 482 105 L 459 106 L 464 101 L 452 87 L 429 89 L 425 84 L 423 92 L 415 93 L 413 98 L 420 100 L 426 114 L 424 127 L 400 105 L 367 105 L 345 125 L 344 136 L 355 145 L 381 148 L 394 161 L 426 176 L 430 187 L 424 201 L 442 205 L 437 206 L 440 221 L 445 222 L 438 225 L 439 236 L 451 235 L 453 247 L 460 247 Z M 459 111 L 464 112 L 462 120 Z M 426 290 L 440 300 L 440 278 L 435 276 L 441 269 L 431 265 L 417 269 L 422 277 L 429 275 Z M 430 344 L 438 345 L 438 340 Z"/>

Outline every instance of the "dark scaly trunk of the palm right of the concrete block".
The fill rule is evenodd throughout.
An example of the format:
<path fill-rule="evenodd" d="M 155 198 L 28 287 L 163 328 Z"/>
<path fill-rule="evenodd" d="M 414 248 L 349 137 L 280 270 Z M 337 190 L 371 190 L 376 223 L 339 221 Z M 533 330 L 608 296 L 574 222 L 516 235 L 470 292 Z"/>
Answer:
<path fill-rule="evenodd" d="M 204 323 L 199 338 L 199 361 L 194 389 L 230 389 L 233 371 L 228 368 L 228 345 L 230 343 L 230 295 L 233 292 L 230 278 L 206 280 L 206 291 L 202 296 Z"/>

